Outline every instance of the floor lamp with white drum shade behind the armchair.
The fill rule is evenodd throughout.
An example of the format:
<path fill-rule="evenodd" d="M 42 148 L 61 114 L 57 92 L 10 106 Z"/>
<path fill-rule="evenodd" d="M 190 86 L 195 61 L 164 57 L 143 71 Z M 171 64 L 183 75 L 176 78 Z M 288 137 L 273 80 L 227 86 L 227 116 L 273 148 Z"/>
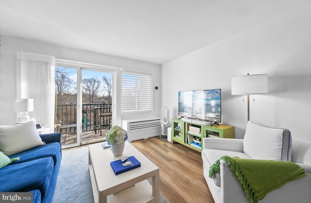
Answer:
<path fill-rule="evenodd" d="M 249 95 L 268 93 L 268 75 L 247 75 L 231 79 L 231 95 L 247 95 L 247 121 L 249 120 Z"/>

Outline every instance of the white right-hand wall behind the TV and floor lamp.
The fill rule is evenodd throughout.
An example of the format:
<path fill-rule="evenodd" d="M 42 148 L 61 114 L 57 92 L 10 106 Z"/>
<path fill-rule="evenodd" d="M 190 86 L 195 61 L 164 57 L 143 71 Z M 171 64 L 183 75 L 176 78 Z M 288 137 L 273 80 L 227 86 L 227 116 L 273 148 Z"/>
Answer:
<path fill-rule="evenodd" d="M 231 78 L 268 74 L 269 94 L 250 96 L 250 119 L 311 141 L 310 22 L 311 6 L 163 64 L 161 106 L 177 118 L 178 91 L 221 88 L 224 124 L 243 138 L 246 96 L 231 95 Z"/>

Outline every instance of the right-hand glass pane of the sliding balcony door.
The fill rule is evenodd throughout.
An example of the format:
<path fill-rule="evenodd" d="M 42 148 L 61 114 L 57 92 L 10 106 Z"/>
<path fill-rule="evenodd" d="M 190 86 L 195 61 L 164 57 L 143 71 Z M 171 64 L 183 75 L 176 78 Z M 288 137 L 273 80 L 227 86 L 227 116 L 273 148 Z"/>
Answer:
<path fill-rule="evenodd" d="M 112 126 L 112 73 L 82 69 L 82 143 L 105 140 Z"/>

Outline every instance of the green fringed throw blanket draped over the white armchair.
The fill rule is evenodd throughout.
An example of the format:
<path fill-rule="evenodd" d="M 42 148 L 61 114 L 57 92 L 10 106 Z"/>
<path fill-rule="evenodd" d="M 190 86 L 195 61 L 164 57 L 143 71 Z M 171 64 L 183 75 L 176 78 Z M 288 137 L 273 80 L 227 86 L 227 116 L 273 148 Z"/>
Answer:
<path fill-rule="evenodd" d="M 269 192 L 307 176 L 304 170 L 290 161 L 240 159 L 239 157 L 223 156 L 233 174 L 240 182 L 251 203 L 258 203 Z M 220 160 L 210 167 L 209 177 L 220 171 Z"/>

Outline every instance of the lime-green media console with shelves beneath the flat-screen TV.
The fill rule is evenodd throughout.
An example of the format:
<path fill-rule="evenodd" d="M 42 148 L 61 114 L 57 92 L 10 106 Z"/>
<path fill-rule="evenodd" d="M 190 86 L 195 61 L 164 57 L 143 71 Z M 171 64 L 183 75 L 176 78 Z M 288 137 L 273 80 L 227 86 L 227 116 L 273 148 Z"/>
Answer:
<path fill-rule="evenodd" d="M 203 137 L 234 138 L 234 127 L 230 125 L 200 125 L 172 119 L 172 144 L 178 142 L 196 151 L 202 151 Z"/>

